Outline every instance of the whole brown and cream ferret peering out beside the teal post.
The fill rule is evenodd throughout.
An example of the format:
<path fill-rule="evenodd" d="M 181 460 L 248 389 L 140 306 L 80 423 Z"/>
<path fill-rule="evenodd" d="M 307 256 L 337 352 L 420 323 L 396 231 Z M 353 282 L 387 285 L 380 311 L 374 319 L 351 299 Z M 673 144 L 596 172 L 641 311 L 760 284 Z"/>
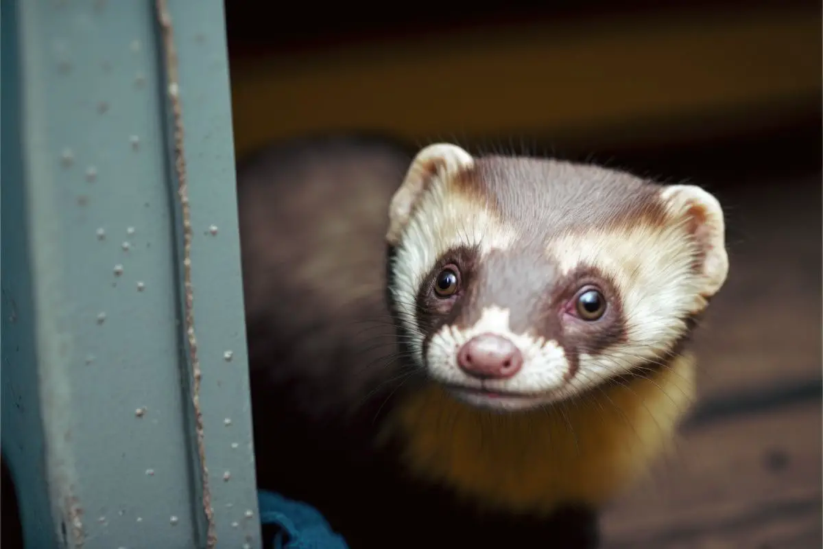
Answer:
<path fill-rule="evenodd" d="M 239 168 L 260 486 L 360 547 L 597 547 L 728 274 L 691 184 L 380 138 Z"/>

